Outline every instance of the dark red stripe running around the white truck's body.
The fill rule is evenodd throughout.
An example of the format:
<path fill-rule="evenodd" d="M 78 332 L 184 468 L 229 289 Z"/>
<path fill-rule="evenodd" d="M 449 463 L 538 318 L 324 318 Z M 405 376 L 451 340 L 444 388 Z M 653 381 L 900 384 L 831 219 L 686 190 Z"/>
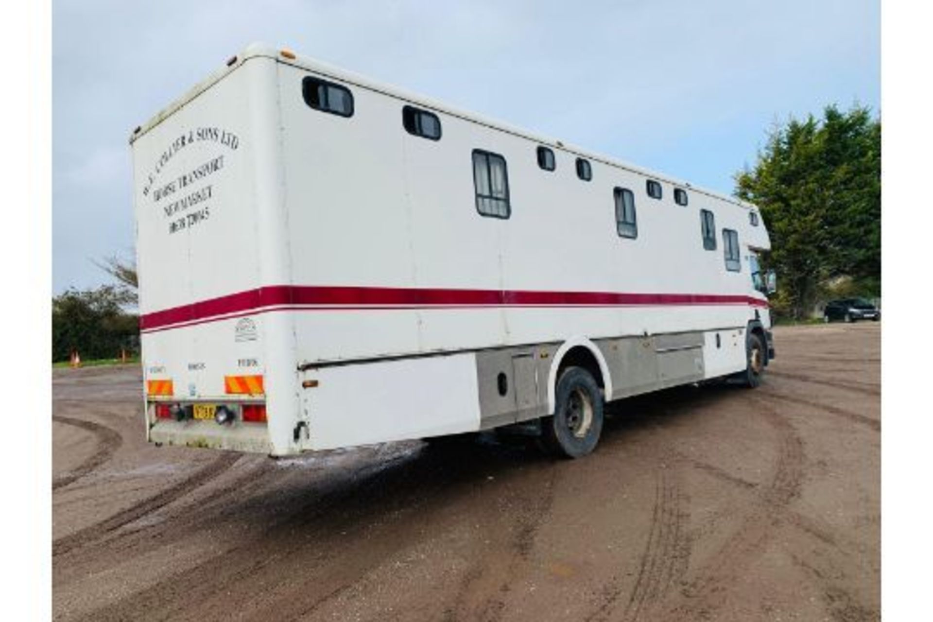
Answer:
<path fill-rule="evenodd" d="M 631 294 L 619 292 L 547 292 L 497 289 L 405 287 L 331 287 L 272 285 L 208 298 L 189 305 L 144 313 L 143 331 L 201 324 L 265 311 L 314 309 L 432 309 L 482 307 L 631 307 L 750 305 L 768 307 L 757 297 L 720 294 Z"/>

